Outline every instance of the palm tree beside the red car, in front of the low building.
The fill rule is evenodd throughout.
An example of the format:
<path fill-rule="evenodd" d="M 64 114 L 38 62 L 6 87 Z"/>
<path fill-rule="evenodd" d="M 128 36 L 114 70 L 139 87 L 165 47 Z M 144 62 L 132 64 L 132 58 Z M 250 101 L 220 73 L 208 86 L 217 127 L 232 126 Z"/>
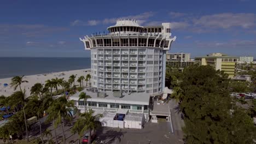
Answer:
<path fill-rule="evenodd" d="M 91 131 L 96 130 L 98 127 L 101 126 L 101 123 L 98 121 L 98 119 L 102 118 L 102 114 L 93 115 L 94 111 L 91 109 L 89 112 L 81 113 L 80 118 L 82 119 L 83 123 L 85 124 L 82 131 L 89 130 L 89 139 L 88 143 L 91 143 Z"/>

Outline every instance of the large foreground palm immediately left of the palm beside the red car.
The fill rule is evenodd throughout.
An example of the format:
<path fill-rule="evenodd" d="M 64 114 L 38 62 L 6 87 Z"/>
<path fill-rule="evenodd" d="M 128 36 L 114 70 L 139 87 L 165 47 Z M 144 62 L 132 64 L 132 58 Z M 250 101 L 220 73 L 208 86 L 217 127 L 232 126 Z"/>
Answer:
<path fill-rule="evenodd" d="M 61 124 L 62 128 L 62 137 L 63 137 L 63 143 L 66 143 L 66 137 L 64 133 L 64 119 L 67 119 L 71 121 L 72 119 L 72 113 L 73 109 L 76 107 L 74 106 L 74 101 L 68 101 L 65 96 L 60 97 L 49 107 L 49 112 L 53 112 L 56 116 L 56 125 Z"/>

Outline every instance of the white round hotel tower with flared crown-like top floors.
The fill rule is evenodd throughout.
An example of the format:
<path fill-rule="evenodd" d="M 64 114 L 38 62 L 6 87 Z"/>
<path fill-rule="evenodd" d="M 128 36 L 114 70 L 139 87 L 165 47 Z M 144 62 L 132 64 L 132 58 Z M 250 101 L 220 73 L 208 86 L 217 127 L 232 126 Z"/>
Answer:
<path fill-rule="evenodd" d="M 161 93 L 165 87 L 166 51 L 170 23 L 140 26 L 136 20 L 117 20 L 108 34 L 86 35 L 85 50 L 91 50 L 92 87 L 98 91 Z"/>

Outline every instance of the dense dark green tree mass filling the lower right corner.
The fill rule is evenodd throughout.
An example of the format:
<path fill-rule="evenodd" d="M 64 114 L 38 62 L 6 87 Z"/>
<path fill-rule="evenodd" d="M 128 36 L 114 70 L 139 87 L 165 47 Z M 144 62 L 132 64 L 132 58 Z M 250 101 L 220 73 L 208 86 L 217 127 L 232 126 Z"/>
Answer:
<path fill-rule="evenodd" d="M 230 98 L 229 83 L 223 71 L 209 66 L 184 69 L 176 98 L 184 114 L 186 143 L 253 143 L 252 118 Z"/>

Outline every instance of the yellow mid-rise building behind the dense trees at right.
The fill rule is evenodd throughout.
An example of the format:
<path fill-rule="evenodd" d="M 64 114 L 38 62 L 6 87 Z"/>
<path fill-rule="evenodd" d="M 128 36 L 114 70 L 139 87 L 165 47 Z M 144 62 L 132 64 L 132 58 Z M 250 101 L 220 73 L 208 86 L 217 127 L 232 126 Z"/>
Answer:
<path fill-rule="evenodd" d="M 224 53 L 210 53 L 205 57 L 195 57 L 195 61 L 200 65 L 210 65 L 215 70 L 223 70 L 229 77 L 234 77 L 238 57 L 232 57 Z"/>

